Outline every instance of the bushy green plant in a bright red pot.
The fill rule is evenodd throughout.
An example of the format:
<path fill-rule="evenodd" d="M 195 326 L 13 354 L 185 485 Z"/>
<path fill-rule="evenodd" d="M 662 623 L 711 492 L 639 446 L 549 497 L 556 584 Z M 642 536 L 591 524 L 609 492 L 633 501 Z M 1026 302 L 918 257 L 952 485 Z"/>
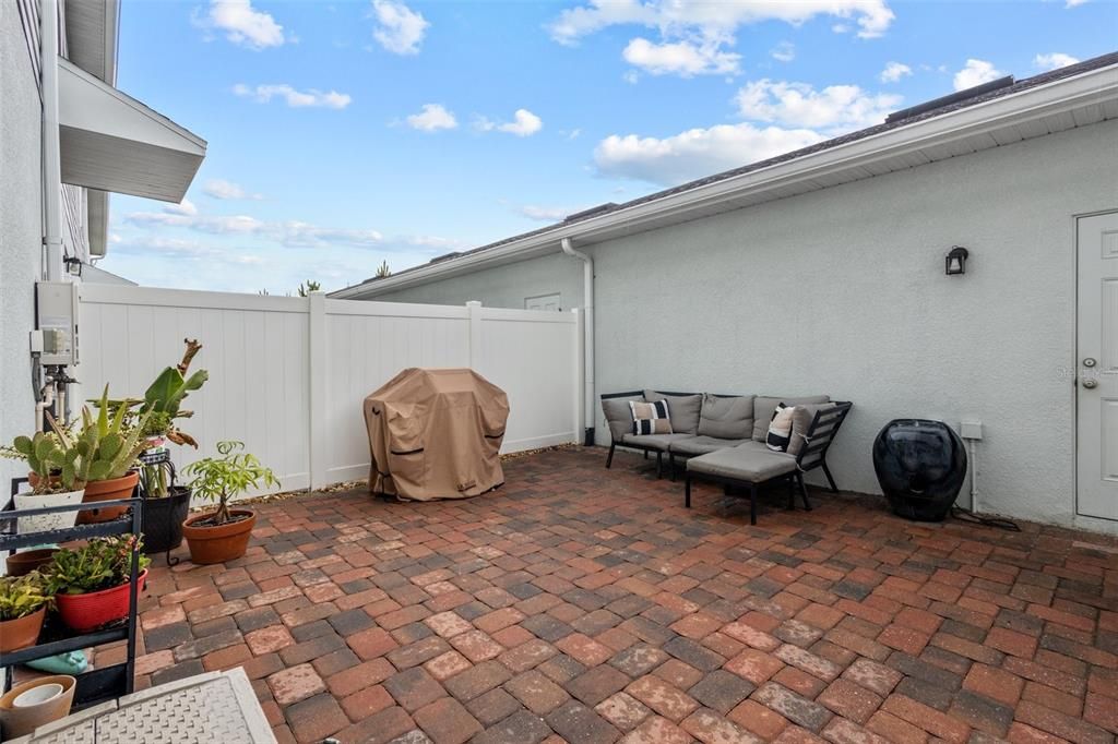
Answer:
<path fill-rule="evenodd" d="M 126 618 L 132 559 L 140 547 L 138 536 L 115 535 L 94 537 L 82 547 L 58 551 L 44 569 L 44 575 L 63 622 L 78 632 L 89 632 Z M 143 591 L 151 560 L 144 555 L 136 557 L 138 591 Z"/>

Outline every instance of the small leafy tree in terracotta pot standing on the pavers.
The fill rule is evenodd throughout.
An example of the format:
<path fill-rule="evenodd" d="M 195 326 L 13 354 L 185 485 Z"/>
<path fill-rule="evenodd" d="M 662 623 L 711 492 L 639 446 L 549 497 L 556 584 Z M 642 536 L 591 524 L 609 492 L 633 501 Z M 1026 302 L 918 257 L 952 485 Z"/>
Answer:
<path fill-rule="evenodd" d="M 195 495 L 217 502 L 217 511 L 192 516 L 182 525 L 182 533 L 195 563 L 224 563 L 240 557 L 248 549 L 248 538 L 256 524 L 252 509 L 230 509 L 229 502 L 253 488 L 278 486 L 269 468 L 248 452 L 238 452 L 239 441 L 219 441 L 221 457 L 207 457 L 187 466 L 192 476 Z"/>

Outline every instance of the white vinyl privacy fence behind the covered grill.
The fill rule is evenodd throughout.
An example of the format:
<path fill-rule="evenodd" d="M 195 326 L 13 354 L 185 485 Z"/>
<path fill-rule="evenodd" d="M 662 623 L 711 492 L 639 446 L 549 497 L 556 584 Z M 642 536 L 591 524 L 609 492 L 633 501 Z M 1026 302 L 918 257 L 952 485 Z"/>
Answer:
<path fill-rule="evenodd" d="M 82 399 L 108 383 L 142 397 L 183 338 L 202 350 L 191 370 L 209 381 L 184 408 L 199 449 L 222 439 L 275 470 L 283 490 L 364 478 L 364 397 L 409 366 L 470 366 L 509 394 L 503 451 L 578 441 L 582 430 L 581 318 L 574 313 L 269 297 L 83 284 L 78 351 Z"/>

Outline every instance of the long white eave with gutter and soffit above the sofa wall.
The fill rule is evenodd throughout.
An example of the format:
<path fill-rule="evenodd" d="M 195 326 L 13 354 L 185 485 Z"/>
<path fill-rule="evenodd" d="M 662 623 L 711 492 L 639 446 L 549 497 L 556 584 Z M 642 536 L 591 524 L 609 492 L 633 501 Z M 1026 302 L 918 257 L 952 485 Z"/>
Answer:
<path fill-rule="evenodd" d="M 530 258 L 553 249 L 563 238 L 594 242 L 596 233 L 618 227 L 639 227 L 648 220 L 663 219 L 749 193 L 775 190 L 799 181 L 825 177 L 839 171 L 872 164 L 887 158 L 982 134 L 995 128 L 1017 125 L 1044 116 L 1097 105 L 1118 98 L 1118 65 L 1100 67 L 1074 77 L 994 98 L 941 116 L 920 120 L 861 140 L 823 150 L 803 158 L 776 163 L 697 187 L 662 199 L 622 207 L 572 225 L 559 223 L 553 230 L 513 240 L 506 245 L 407 273 L 366 282 L 331 294 L 332 297 L 373 297 L 416 284 L 443 279 L 485 268 L 486 266 Z"/>

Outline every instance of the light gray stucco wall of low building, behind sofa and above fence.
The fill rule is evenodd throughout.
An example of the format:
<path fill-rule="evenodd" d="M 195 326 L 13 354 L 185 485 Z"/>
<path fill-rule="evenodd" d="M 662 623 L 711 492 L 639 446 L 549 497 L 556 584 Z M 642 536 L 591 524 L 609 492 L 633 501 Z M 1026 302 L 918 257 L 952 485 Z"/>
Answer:
<path fill-rule="evenodd" d="M 1118 209 L 1118 122 L 1052 134 L 591 246 L 597 394 L 825 392 L 854 409 L 830 457 L 879 493 L 890 419 L 980 420 L 983 511 L 1076 516 L 1074 216 Z M 961 277 L 944 255 L 966 246 Z M 523 307 L 531 259 L 377 299 Z M 574 306 L 563 295 L 566 307 Z M 599 412 L 600 418 L 600 412 Z M 599 443 L 608 433 L 597 421 Z M 960 500 L 966 500 L 966 496 Z"/>

